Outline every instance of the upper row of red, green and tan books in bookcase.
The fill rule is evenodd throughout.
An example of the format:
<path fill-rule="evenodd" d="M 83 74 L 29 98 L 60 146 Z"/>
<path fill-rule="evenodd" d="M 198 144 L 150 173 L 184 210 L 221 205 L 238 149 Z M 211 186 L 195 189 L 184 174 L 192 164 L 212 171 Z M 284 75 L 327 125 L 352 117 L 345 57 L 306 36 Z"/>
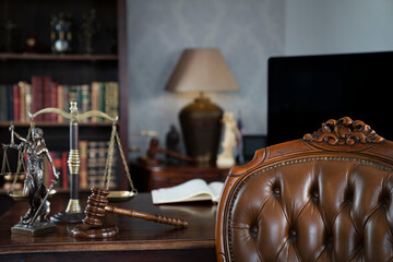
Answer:
<path fill-rule="evenodd" d="M 70 111 L 70 102 L 78 102 L 80 112 L 99 110 L 110 117 L 119 115 L 119 85 L 117 82 L 92 82 L 82 85 L 59 84 L 50 76 L 33 75 L 32 82 L 20 81 L 0 85 L 0 121 L 28 122 L 28 112 L 47 107 Z M 57 114 L 43 114 L 36 121 L 63 122 Z M 104 119 L 92 117 L 88 122 Z"/>

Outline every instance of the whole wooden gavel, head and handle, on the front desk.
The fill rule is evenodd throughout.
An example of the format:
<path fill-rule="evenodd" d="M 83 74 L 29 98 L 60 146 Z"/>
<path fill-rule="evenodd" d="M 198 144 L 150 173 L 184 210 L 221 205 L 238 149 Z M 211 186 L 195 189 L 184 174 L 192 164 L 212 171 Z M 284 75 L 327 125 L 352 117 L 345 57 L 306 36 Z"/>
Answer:
<path fill-rule="evenodd" d="M 177 227 L 188 226 L 188 222 L 179 218 L 167 217 L 164 215 L 155 215 L 155 214 L 139 212 L 133 210 L 123 210 L 112 205 L 108 205 L 108 200 L 107 200 L 108 194 L 109 194 L 108 190 L 103 190 L 95 187 L 92 188 L 92 194 L 87 199 L 87 205 L 85 210 L 86 217 L 82 221 L 84 224 L 94 227 L 100 227 L 103 225 L 103 222 L 100 219 L 105 216 L 105 211 L 107 211 L 115 214 L 139 217 L 142 219 L 167 224 L 170 226 L 177 226 Z"/>

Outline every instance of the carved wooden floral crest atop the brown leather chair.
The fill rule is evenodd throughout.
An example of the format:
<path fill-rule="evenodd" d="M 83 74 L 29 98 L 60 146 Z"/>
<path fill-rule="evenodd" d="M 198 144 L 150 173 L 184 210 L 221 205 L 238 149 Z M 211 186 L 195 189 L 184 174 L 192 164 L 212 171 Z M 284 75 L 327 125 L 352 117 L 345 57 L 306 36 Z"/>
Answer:
<path fill-rule="evenodd" d="M 305 141 L 329 143 L 330 145 L 354 145 L 356 143 L 379 143 L 383 138 L 378 135 L 370 126 L 360 120 L 344 117 L 338 120 L 327 120 L 322 128 L 303 136 Z"/>

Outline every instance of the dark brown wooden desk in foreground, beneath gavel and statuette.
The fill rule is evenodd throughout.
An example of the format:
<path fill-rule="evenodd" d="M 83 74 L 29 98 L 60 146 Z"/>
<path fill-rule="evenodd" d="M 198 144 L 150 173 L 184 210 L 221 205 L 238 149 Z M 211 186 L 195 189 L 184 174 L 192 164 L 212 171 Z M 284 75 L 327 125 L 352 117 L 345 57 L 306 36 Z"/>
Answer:
<path fill-rule="evenodd" d="M 86 195 L 81 194 L 85 206 Z M 50 199 L 51 213 L 63 211 L 68 195 Z M 150 193 L 114 205 L 142 212 L 176 216 L 189 222 L 188 228 L 107 214 L 119 226 L 118 236 L 105 240 L 79 240 L 70 237 L 74 225 L 58 225 L 49 235 L 27 237 L 11 235 L 11 227 L 28 210 L 17 202 L 0 217 L 0 261 L 215 261 L 214 225 L 216 205 L 210 202 L 153 205 Z"/>

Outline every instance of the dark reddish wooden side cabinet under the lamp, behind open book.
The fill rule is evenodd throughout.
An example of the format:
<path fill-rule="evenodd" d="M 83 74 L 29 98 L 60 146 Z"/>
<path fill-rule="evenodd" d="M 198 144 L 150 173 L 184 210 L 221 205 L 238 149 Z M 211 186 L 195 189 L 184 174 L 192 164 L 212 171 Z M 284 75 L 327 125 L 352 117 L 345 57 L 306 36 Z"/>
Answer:
<path fill-rule="evenodd" d="M 136 189 L 141 192 L 148 192 L 153 189 L 183 183 L 194 178 L 201 178 L 207 183 L 212 181 L 224 182 L 229 174 L 229 168 L 132 163 L 131 174 Z"/>

